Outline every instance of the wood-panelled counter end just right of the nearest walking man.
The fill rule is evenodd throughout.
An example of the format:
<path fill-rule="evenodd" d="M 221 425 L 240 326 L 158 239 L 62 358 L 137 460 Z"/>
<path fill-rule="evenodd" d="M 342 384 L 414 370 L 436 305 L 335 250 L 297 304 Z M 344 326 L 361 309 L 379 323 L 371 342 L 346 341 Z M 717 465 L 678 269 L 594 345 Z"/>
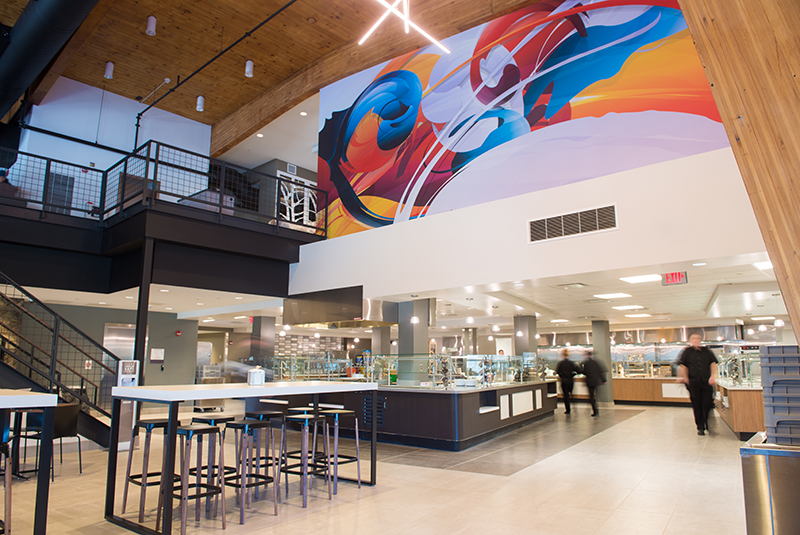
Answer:
<path fill-rule="evenodd" d="M 764 392 L 760 386 L 717 384 L 717 412 L 740 440 L 764 431 Z"/>

